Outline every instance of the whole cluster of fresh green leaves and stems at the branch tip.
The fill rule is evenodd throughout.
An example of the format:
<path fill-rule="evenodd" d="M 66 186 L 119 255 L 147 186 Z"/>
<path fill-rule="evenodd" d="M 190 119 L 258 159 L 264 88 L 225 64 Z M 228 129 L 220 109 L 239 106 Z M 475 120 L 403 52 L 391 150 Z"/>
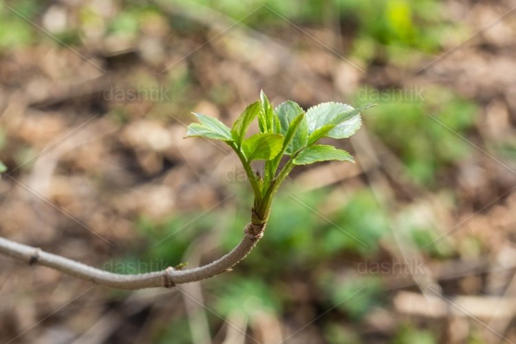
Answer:
<path fill-rule="evenodd" d="M 342 103 L 321 103 L 304 111 L 291 100 L 273 108 L 262 91 L 259 100 L 240 114 L 229 128 L 216 118 L 194 114 L 199 122 L 189 125 L 185 138 L 222 140 L 237 153 L 255 193 L 252 221 L 267 221 L 272 197 L 295 165 L 327 160 L 354 162 L 343 149 L 318 144 L 321 138 L 349 138 L 361 127 L 361 111 Z M 251 123 L 258 121 L 259 133 L 247 136 Z M 287 161 L 280 169 L 283 157 Z M 252 170 L 251 162 L 264 160 L 263 178 Z"/>

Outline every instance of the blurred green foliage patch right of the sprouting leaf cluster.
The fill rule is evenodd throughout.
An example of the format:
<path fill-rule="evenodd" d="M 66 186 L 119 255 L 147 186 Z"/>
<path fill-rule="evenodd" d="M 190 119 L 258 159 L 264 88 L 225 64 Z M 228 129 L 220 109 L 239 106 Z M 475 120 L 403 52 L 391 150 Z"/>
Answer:
<path fill-rule="evenodd" d="M 440 172 L 471 151 L 459 136 L 466 136 L 475 124 L 477 105 L 449 89 L 429 89 L 424 98 L 393 89 L 365 89 L 358 98 L 380 104 L 371 109 L 367 124 L 420 184 L 437 182 Z"/>

